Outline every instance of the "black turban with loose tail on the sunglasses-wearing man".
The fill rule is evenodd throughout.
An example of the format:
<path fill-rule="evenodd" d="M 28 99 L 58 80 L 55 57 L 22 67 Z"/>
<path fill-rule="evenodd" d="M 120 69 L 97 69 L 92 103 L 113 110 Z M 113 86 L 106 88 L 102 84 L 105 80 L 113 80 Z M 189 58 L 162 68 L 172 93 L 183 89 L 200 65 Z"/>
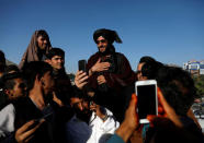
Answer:
<path fill-rule="evenodd" d="M 122 43 L 121 38 L 118 37 L 117 33 L 115 31 L 100 28 L 97 29 L 93 34 L 93 39 L 97 43 L 97 39 L 102 36 L 104 37 L 110 44 L 113 44 L 113 41 Z"/>

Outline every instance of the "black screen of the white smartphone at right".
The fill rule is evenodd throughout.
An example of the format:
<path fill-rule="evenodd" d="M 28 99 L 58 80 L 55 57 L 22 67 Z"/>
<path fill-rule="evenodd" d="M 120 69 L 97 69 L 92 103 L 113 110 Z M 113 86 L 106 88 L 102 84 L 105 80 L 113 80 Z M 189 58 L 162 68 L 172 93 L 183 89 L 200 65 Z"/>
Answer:
<path fill-rule="evenodd" d="M 146 119 L 147 115 L 157 115 L 156 96 L 156 84 L 137 86 L 139 119 Z"/>

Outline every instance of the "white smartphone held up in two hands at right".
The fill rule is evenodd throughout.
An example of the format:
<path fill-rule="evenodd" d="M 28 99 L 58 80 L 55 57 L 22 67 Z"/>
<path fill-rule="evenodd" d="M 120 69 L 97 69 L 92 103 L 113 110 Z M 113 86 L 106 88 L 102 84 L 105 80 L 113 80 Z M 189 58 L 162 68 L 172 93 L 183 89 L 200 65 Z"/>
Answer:
<path fill-rule="evenodd" d="M 135 91 L 138 99 L 139 123 L 149 123 L 147 115 L 158 115 L 157 81 L 138 81 L 135 84 Z"/>

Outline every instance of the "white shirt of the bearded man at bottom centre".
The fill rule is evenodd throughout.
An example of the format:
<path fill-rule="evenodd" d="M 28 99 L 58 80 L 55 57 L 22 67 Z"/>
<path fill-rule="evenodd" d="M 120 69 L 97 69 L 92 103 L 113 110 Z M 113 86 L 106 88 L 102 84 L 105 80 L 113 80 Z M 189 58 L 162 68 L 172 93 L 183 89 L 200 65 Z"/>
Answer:
<path fill-rule="evenodd" d="M 92 112 L 89 124 L 73 116 L 66 124 L 66 135 L 70 143 L 105 143 L 120 127 L 113 114 L 105 108 L 107 119 L 103 120 Z"/>

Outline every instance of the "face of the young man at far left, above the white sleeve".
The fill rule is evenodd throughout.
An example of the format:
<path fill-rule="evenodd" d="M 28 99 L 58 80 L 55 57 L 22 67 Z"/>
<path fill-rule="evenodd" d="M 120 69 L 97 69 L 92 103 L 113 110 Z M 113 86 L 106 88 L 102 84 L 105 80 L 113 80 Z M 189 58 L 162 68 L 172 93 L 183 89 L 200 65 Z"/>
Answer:
<path fill-rule="evenodd" d="M 9 99 L 16 99 L 19 97 L 25 96 L 25 83 L 22 79 L 13 80 L 15 85 L 12 90 L 8 90 Z"/>

